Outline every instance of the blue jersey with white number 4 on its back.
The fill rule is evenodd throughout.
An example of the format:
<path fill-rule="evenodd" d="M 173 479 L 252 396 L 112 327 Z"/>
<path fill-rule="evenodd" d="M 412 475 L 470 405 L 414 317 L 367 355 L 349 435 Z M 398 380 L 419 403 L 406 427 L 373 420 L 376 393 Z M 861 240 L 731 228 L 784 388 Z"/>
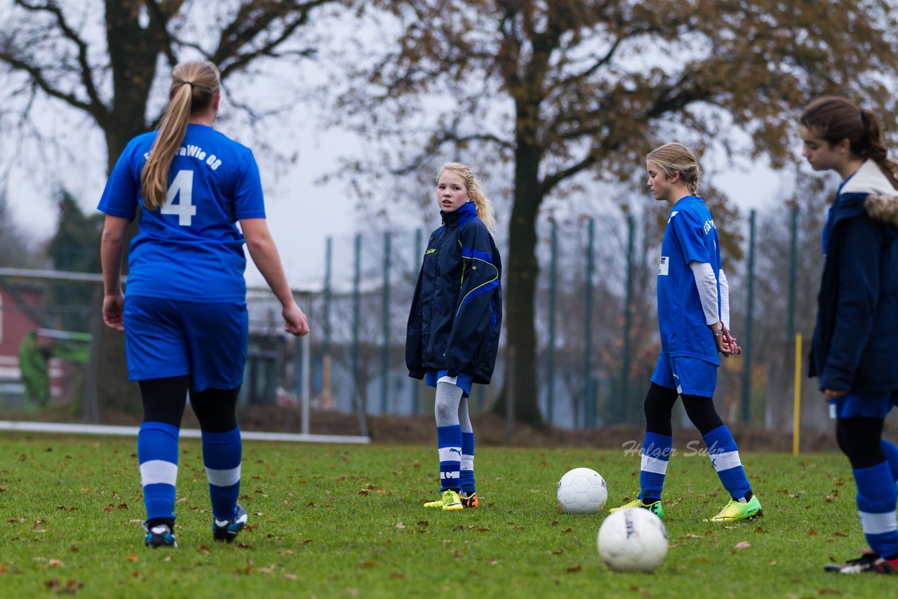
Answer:
<path fill-rule="evenodd" d="M 156 132 L 137 136 L 119 157 L 99 209 L 133 219 L 140 174 Z M 172 160 L 165 205 L 141 212 L 128 254 L 128 295 L 228 302 L 246 297 L 241 218 L 264 218 L 259 167 L 249 148 L 205 125 L 188 125 Z"/>

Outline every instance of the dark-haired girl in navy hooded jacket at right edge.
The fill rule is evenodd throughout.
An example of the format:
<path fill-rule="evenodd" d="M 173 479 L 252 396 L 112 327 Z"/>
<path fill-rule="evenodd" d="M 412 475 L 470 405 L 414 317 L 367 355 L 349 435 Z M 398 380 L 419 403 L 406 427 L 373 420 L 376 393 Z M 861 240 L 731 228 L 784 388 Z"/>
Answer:
<path fill-rule="evenodd" d="M 824 569 L 888 574 L 898 570 L 898 447 L 882 438 L 885 416 L 898 404 L 898 164 L 886 157 L 873 113 L 844 98 L 812 102 L 799 122 L 807 162 L 842 179 L 823 228 L 810 375 L 836 419 L 870 546 Z"/>

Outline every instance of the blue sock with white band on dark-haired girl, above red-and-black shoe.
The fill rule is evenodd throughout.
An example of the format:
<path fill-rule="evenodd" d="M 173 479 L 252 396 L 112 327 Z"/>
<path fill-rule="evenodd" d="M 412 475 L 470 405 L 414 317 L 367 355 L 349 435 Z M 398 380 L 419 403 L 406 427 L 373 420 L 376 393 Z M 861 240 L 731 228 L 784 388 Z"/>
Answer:
<path fill-rule="evenodd" d="M 898 555 L 898 524 L 895 520 L 895 491 L 888 462 L 852 471 L 858 485 L 858 514 L 867 544 L 881 557 Z"/>

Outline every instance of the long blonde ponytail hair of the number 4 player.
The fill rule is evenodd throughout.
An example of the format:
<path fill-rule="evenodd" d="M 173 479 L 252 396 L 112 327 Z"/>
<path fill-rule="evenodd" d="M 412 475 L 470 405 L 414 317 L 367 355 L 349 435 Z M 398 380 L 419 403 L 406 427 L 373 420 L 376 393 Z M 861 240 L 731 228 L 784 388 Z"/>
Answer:
<path fill-rule="evenodd" d="M 188 62 L 174 67 L 169 105 L 140 173 L 147 209 L 156 210 L 165 203 L 172 158 L 184 142 L 190 114 L 208 110 L 220 91 L 218 69 L 212 63 Z"/>

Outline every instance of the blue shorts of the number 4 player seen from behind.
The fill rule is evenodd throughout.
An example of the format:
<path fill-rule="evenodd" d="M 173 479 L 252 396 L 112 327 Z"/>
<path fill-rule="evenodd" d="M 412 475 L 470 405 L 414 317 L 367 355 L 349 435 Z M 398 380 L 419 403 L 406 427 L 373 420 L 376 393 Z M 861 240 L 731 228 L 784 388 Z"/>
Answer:
<path fill-rule="evenodd" d="M 246 302 L 206 304 L 125 295 L 128 379 L 190 376 L 192 391 L 243 383 L 249 339 Z"/>

